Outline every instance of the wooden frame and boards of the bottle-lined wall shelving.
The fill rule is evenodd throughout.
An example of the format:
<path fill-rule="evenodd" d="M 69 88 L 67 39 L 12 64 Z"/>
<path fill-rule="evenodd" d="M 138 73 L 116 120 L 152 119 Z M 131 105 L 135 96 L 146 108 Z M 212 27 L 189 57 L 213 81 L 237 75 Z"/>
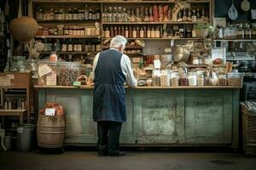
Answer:
<path fill-rule="evenodd" d="M 53 4 L 53 5 L 49 5 Z M 186 3 L 191 4 L 191 8 L 201 8 L 207 7 L 206 12 L 209 19 L 212 18 L 212 1 L 211 0 L 188 0 Z M 35 16 L 35 9 L 36 7 L 43 7 L 43 9 L 50 9 L 50 8 L 64 8 L 64 11 L 67 11 L 68 8 L 84 8 L 84 5 L 88 4 L 88 6 L 100 8 L 101 11 L 101 19 L 100 20 L 38 20 L 38 23 L 45 27 L 53 27 L 56 25 L 65 25 L 65 26 L 88 26 L 93 25 L 94 22 L 98 22 L 101 29 L 103 30 L 104 26 L 194 26 L 198 23 L 207 23 L 201 21 L 158 21 L 158 22 L 106 22 L 103 20 L 103 10 L 105 7 L 122 7 L 122 8 L 137 8 L 141 6 L 145 7 L 152 7 L 154 4 L 160 5 L 169 5 L 169 7 L 173 7 L 175 5 L 175 1 L 84 1 L 84 0 L 30 0 L 29 1 L 29 11 L 28 14 L 31 16 Z M 129 7 L 127 6 L 129 5 Z M 212 23 L 212 20 L 209 20 Z M 102 31 L 103 32 L 103 31 Z M 108 46 L 103 43 L 103 41 L 107 40 L 108 38 L 104 37 L 101 33 L 101 36 L 36 36 L 36 38 L 40 39 L 89 39 L 89 38 L 98 38 L 101 39 L 102 50 L 107 49 Z M 168 41 L 204 41 L 202 38 L 198 37 L 160 37 L 160 38 L 132 38 L 128 37 L 128 41 L 134 40 L 145 40 L 147 45 L 145 48 L 141 48 L 143 50 L 143 54 L 148 54 L 148 52 L 152 52 L 152 54 L 163 53 L 163 50 L 159 50 L 159 48 L 163 48 L 168 46 L 170 42 Z M 164 40 L 164 41 L 163 41 Z M 155 43 L 159 43 L 160 47 L 156 47 Z M 126 49 L 129 47 L 126 47 Z M 140 48 L 130 48 L 130 49 L 140 49 Z M 152 49 L 154 51 L 152 51 Z M 49 54 L 47 52 L 43 52 L 41 54 Z M 87 54 L 87 52 L 57 52 L 57 54 Z M 131 55 L 131 54 L 128 54 Z M 135 55 L 135 54 L 132 54 Z M 141 54 L 138 54 L 141 55 Z M 143 56 L 143 55 L 141 55 Z"/>

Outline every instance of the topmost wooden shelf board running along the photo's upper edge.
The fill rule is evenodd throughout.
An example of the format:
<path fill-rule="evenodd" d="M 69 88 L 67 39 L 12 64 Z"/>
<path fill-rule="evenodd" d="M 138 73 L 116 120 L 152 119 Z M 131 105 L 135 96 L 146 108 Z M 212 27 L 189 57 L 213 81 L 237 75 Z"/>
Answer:
<path fill-rule="evenodd" d="M 32 0 L 34 3 L 175 3 L 171 1 L 84 1 L 84 0 Z M 188 0 L 188 3 L 211 3 L 210 0 Z"/>

